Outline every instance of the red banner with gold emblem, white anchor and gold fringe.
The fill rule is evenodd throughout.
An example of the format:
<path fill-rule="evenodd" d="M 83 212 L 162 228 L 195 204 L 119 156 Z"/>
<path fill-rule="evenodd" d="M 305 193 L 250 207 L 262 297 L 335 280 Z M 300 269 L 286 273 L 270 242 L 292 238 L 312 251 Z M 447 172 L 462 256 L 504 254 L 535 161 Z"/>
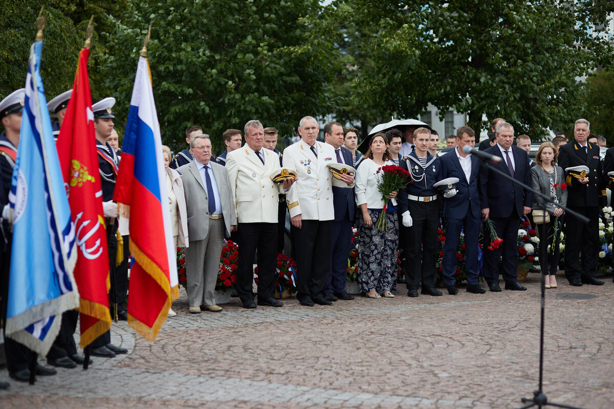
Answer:
<path fill-rule="evenodd" d="M 111 327 L 107 296 L 109 255 L 87 73 L 89 56 L 89 48 L 83 48 L 79 54 L 71 99 L 56 144 L 77 234 L 74 277 L 81 298 L 79 345 L 82 348 Z"/>

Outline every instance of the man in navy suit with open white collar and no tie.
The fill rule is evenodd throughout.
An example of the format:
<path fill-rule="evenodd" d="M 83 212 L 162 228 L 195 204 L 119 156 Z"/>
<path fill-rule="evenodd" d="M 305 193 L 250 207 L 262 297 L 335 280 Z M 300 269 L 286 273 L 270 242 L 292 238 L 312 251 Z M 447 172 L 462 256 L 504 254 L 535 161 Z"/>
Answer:
<path fill-rule="evenodd" d="M 465 145 L 475 145 L 475 132 L 468 126 L 461 126 L 456 131 L 456 148 L 440 156 L 441 178 L 456 177 L 456 196 L 445 199 L 443 217 L 446 221 L 446 243 L 443 249 L 441 263 L 441 278 L 452 296 L 458 294 L 456 288 L 456 253 L 459 248 L 461 230 L 465 234 L 465 251 L 467 262 L 467 292 L 483 294 L 478 274 L 478 236 L 480 235 L 480 193 L 478 180 L 480 177 L 480 159 L 470 153 L 464 153 Z"/>

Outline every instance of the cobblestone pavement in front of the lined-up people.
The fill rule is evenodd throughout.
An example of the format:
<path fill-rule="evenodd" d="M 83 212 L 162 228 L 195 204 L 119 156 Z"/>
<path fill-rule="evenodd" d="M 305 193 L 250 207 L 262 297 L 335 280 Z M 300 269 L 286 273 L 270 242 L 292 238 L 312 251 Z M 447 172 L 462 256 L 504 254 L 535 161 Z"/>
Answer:
<path fill-rule="evenodd" d="M 516 408 L 538 382 L 538 274 L 527 291 L 338 301 L 177 316 L 157 340 L 112 327 L 127 355 L 10 381 L 2 408 Z M 547 291 L 544 391 L 585 408 L 614 402 L 614 284 Z M 565 295 L 567 294 L 567 295 Z M 574 299 L 586 294 L 592 298 Z"/>

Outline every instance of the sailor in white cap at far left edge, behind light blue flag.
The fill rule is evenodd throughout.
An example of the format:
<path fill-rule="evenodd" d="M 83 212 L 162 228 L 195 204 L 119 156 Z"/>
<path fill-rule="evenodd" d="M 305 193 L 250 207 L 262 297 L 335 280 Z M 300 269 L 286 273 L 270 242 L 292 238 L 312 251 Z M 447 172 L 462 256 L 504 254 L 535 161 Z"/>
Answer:
<path fill-rule="evenodd" d="M 0 208 L 2 208 L 2 233 L 0 239 L 2 253 L 0 259 L 0 320 L 6 323 L 6 300 L 9 290 L 10 253 L 6 251 L 5 240 L 10 240 L 9 191 L 13 175 L 15 159 L 17 159 L 17 147 L 19 146 L 19 132 L 21 131 L 21 110 L 25 99 L 25 88 L 14 91 L 0 101 L 0 121 L 4 131 L 0 134 Z M 6 210 L 5 210 L 6 207 Z M 35 250 L 35 249 L 33 249 Z M 9 376 L 20 382 L 28 382 L 30 371 L 28 369 L 33 352 L 12 338 L 4 338 L 4 353 L 6 354 L 6 367 Z M 54 369 L 45 368 L 36 364 L 36 375 L 55 375 Z M 7 386 L 4 384 L 3 386 Z"/>

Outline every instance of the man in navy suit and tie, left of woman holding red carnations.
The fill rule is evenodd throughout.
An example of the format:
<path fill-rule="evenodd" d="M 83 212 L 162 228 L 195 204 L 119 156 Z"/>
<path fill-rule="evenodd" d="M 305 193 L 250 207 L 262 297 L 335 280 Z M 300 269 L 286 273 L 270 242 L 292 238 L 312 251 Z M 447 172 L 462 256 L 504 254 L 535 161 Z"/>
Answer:
<path fill-rule="evenodd" d="M 324 125 L 324 140 L 328 145 L 335 148 L 335 160 L 349 166 L 353 165 L 352 153 L 343 145 L 343 126 L 338 122 L 329 122 Z M 348 254 L 352 245 L 352 224 L 356 213 L 354 201 L 354 185 L 345 187 L 333 185 L 333 206 L 335 207 L 335 219 L 331 227 L 332 257 L 328 281 L 324 290 L 324 297 L 328 301 L 353 300 L 354 296 L 345 291 L 346 279 L 348 278 Z"/>

